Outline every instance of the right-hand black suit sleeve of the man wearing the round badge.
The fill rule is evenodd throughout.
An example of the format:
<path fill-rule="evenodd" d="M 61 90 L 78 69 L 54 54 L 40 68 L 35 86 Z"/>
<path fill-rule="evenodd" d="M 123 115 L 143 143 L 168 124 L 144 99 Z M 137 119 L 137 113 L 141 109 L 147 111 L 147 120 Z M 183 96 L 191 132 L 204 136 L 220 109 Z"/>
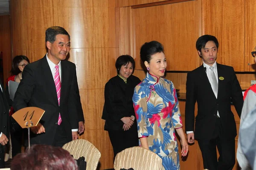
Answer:
<path fill-rule="evenodd" d="M 243 99 L 243 94 L 241 90 L 241 86 L 239 84 L 239 81 L 236 77 L 236 73 L 234 71 L 234 68 L 232 68 L 231 71 L 231 99 L 233 101 L 233 104 L 236 108 L 236 112 L 240 118 L 243 104 L 244 104 L 244 99 Z"/>

